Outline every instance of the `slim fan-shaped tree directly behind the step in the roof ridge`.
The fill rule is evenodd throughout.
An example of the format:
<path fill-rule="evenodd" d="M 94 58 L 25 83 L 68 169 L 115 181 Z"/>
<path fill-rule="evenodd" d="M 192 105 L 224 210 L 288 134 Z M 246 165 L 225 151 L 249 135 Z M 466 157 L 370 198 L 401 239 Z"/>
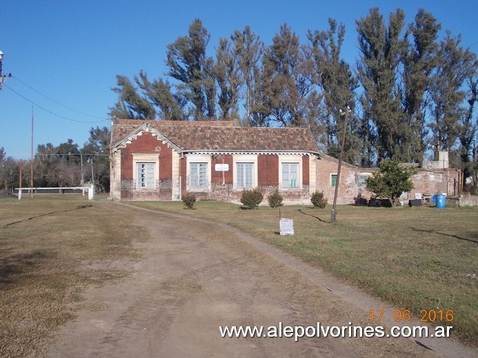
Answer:
<path fill-rule="evenodd" d="M 235 30 L 234 34 L 231 35 L 231 40 L 239 55 L 239 69 L 242 72 L 243 81 L 246 85 L 245 122 L 247 125 L 250 125 L 255 69 L 258 68 L 257 64 L 261 59 L 264 45 L 259 36 L 254 34 L 248 25 L 242 31 Z"/>

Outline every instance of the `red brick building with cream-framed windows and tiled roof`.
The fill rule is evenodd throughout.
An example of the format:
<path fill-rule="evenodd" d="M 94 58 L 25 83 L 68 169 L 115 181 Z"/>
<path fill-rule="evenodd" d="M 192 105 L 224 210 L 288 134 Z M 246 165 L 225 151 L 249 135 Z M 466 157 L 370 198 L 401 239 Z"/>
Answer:
<path fill-rule="evenodd" d="M 113 200 L 197 198 L 239 202 L 244 188 L 268 195 L 279 189 L 288 204 L 309 204 L 316 189 L 332 202 L 338 160 L 319 154 L 307 128 L 238 127 L 232 122 L 113 120 L 110 196 Z M 448 158 L 424 162 L 412 177 L 415 193 L 459 193 L 459 171 Z M 425 167 L 426 166 L 426 167 Z M 363 203 L 375 169 L 343 162 L 338 204 Z"/>

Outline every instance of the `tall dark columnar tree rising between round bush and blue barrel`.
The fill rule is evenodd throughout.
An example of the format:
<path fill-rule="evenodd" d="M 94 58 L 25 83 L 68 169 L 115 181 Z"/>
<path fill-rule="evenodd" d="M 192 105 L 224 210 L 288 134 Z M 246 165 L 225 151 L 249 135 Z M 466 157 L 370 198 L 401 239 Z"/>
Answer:
<path fill-rule="evenodd" d="M 430 74 L 437 66 L 437 35 L 441 25 L 430 12 L 419 9 L 405 34 L 402 55 L 400 158 L 421 162 L 426 150 L 426 101 Z"/>

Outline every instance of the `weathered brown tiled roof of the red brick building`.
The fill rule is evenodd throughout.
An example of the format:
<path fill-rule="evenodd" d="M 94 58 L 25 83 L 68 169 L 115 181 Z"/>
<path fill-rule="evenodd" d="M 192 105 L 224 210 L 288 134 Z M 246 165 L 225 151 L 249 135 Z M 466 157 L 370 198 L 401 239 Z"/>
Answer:
<path fill-rule="evenodd" d="M 112 143 L 118 143 L 144 123 L 144 120 L 119 120 L 116 124 L 114 123 Z M 230 122 L 182 122 L 179 124 L 180 121 L 166 123 L 162 120 L 150 120 L 148 123 L 182 151 L 318 152 L 308 128 L 234 127 Z"/>

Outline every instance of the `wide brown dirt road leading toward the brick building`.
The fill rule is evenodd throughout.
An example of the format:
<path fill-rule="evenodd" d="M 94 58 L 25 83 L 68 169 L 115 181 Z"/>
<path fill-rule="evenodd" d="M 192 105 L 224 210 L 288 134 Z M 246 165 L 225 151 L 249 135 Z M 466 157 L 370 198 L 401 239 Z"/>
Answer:
<path fill-rule="evenodd" d="M 370 326 L 394 307 L 223 224 L 101 205 L 135 218 L 151 239 L 131 275 L 90 288 L 48 357 L 474 357 L 452 339 L 222 338 L 219 326 Z M 128 266 L 129 265 L 129 266 Z"/>

